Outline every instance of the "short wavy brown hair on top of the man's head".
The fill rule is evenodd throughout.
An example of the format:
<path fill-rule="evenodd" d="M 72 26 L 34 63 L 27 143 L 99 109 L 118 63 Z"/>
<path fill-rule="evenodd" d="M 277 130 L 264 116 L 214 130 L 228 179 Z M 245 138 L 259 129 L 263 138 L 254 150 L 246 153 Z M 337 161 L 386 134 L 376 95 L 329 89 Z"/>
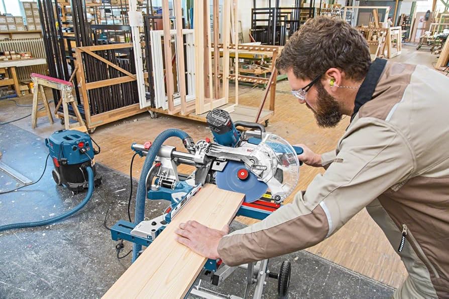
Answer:
<path fill-rule="evenodd" d="M 319 16 L 309 19 L 295 32 L 279 58 L 276 68 L 300 79 L 313 79 L 329 68 L 339 68 L 354 80 L 365 77 L 371 56 L 365 38 L 347 22 Z"/>

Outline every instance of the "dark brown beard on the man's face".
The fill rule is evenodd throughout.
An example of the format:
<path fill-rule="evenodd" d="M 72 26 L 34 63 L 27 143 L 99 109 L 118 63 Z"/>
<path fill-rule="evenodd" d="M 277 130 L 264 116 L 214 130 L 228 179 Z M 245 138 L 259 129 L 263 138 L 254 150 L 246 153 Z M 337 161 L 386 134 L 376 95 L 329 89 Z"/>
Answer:
<path fill-rule="evenodd" d="M 343 113 L 340 103 L 331 96 L 321 82 L 315 83 L 318 92 L 318 100 L 316 101 L 315 114 L 316 122 L 320 127 L 331 128 L 336 126 L 342 119 Z"/>

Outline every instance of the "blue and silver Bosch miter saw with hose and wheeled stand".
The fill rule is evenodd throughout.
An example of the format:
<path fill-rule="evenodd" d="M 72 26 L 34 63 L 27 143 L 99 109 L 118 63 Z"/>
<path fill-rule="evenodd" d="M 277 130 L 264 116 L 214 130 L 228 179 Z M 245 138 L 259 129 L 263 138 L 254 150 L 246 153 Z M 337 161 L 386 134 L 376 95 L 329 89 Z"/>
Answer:
<path fill-rule="evenodd" d="M 264 219 L 281 207 L 299 179 L 297 155 L 301 147 L 293 147 L 283 138 L 265 132 L 258 123 L 233 122 L 227 111 L 214 109 L 207 115 L 207 124 L 213 134 L 196 143 L 182 130 L 162 132 L 153 143 L 134 143 L 133 151 L 146 156 L 139 181 L 135 223 L 120 220 L 111 228 L 114 240 L 134 242 L 133 261 L 143 246 L 148 246 L 176 216 L 182 207 L 194 200 L 196 192 L 204 184 L 216 184 L 218 188 L 245 194 L 245 201 L 237 215 Z M 237 126 L 254 130 L 237 130 Z M 173 146 L 162 143 L 169 137 L 183 140 L 188 153 L 178 152 Z M 196 169 L 190 175 L 178 174 L 177 166 L 186 164 Z M 163 215 L 144 220 L 145 200 L 168 200 L 170 205 Z M 290 263 L 284 261 L 279 274 L 268 270 L 268 260 L 242 265 L 247 269 L 247 290 L 256 284 L 254 297 L 263 292 L 266 277 L 278 279 L 281 296 L 287 294 Z M 208 260 L 201 272 L 201 279 L 219 285 L 237 267 L 229 267 L 221 260 Z M 201 280 L 200 280 L 201 281 Z M 200 285 L 192 286 L 191 293 L 210 297 L 209 290 Z M 245 295 L 246 295 L 245 294 Z M 216 294 L 215 294 L 216 297 Z M 230 297 L 230 296 L 225 296 Z M 235 297 L 235 296 L 234 296 Z"/>

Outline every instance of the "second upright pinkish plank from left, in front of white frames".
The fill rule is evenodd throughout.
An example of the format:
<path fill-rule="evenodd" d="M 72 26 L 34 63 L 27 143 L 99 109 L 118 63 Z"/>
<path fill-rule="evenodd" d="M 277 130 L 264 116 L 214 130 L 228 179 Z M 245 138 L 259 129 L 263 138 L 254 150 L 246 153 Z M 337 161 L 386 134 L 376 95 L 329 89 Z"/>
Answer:
<path fill-rule="evenodd" d="M 176 16 L 176 56 L 178 58 L 178 78 L 179 78 L 179 92 L 181 100 L 181 114 L 187 114 L 187 103 L 185 102 L 185 65 L 184 65 L 184 38 L 182 35 L 182 11 L 181 0 L 174 0 Z"/>

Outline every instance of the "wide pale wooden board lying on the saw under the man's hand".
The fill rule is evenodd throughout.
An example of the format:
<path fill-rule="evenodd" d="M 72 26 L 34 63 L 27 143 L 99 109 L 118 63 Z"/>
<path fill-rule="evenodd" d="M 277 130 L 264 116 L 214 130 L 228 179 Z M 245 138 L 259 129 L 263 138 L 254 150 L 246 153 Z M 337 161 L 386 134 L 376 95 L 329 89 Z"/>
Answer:
<path fill-rule="evenodd" d="M 243 199 L 243 194 L 207 184 L 102 298 L 184 297 L 207 259 L 176 242 L 174 231 L 189 220 L 222 229 L 231 223 Z"/>

